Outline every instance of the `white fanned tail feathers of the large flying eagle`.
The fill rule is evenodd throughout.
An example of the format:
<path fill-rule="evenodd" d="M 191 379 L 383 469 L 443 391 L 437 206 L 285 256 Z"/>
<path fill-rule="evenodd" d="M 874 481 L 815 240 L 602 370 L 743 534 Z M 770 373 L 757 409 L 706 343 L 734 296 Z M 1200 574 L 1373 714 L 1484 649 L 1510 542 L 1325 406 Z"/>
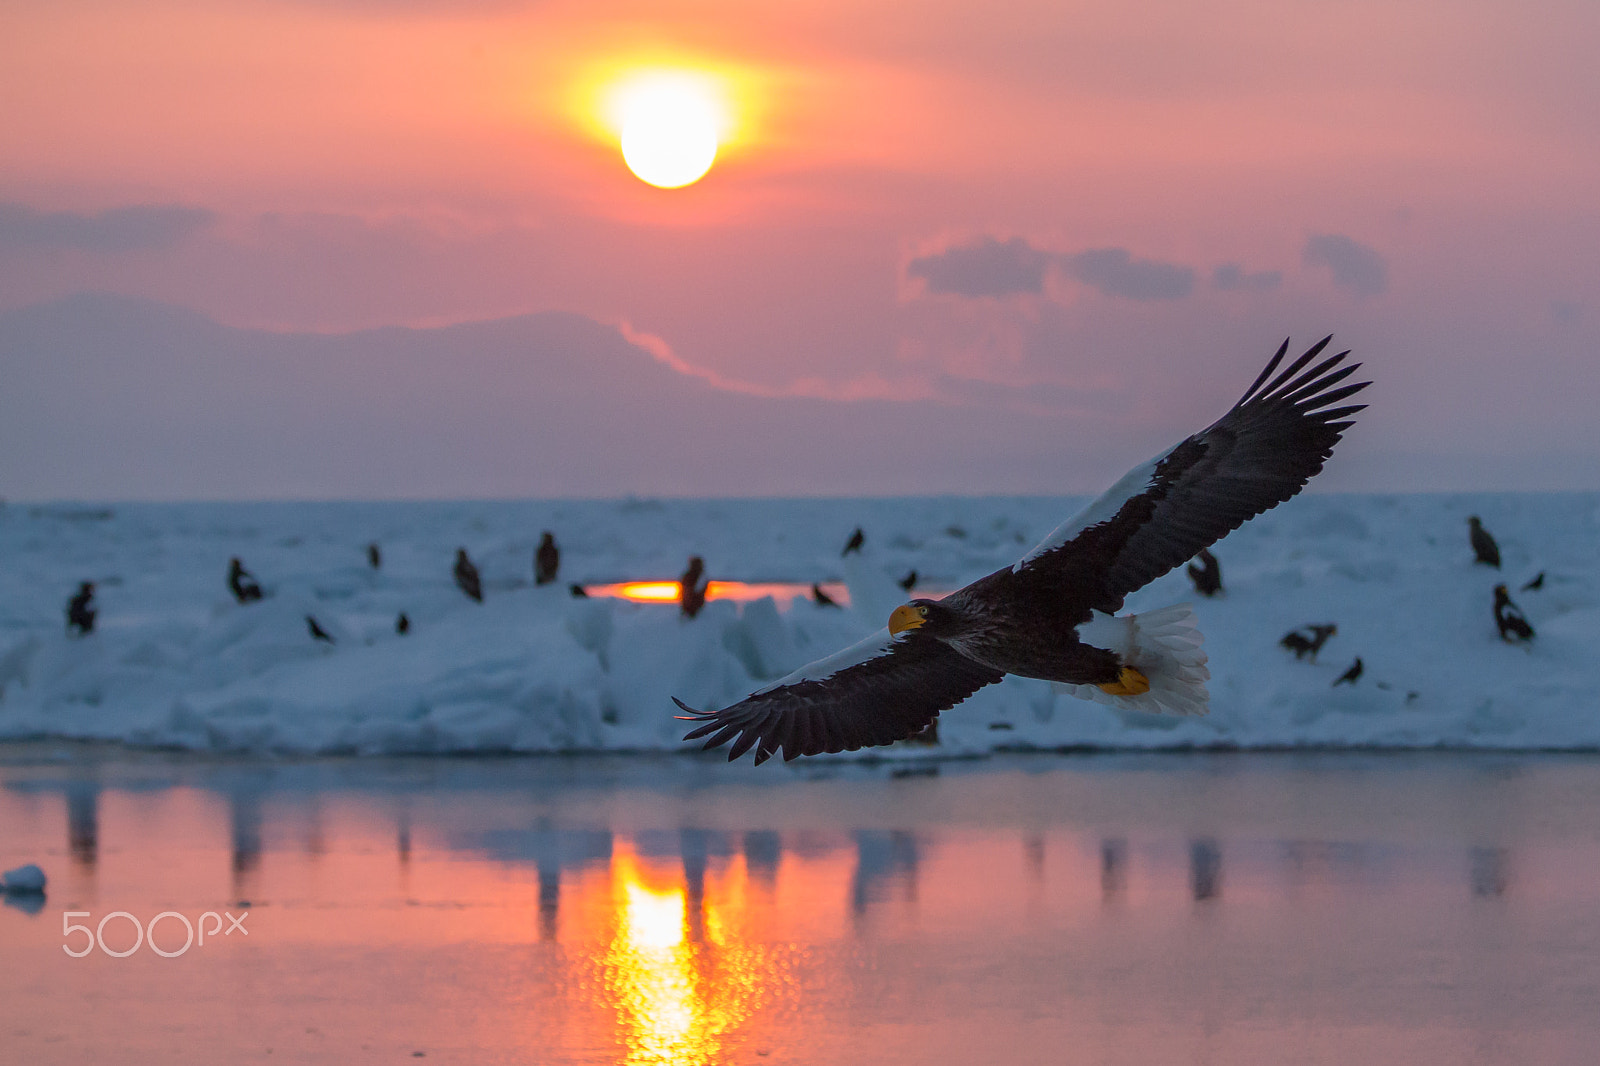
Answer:
<path fill-rule="evenodd" d="M 1099 685 L 1054 683 L 1078 699 L 1093 699 L 1118 711 L 1146 714 L 1205 714 L 1211 671 L 1205 666 L 1203 637 L 1187 603 L 1174 603 L 1142 615 L 1094 615 L 1078 626 L 1078 640 L 1122 656 L 1150 680 L 1138 696 L 1114 696 Z"/>

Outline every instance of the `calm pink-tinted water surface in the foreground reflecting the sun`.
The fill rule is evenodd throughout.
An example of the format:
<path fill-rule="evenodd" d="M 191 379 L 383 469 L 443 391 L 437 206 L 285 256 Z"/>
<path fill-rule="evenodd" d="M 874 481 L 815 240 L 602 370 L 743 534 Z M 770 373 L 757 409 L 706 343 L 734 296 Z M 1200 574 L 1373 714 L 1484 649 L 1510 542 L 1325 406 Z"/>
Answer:
<path fill-rule="evenodd" d="M 0 747 L 26 861 L 6 1061 L 1600 1056 L 1600 759 Z"/>

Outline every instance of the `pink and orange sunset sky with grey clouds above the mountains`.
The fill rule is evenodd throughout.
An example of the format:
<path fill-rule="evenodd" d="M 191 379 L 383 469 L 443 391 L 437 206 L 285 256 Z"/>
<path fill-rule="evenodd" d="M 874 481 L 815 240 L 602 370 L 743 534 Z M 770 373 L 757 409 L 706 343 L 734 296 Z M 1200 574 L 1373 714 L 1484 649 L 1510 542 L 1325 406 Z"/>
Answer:
<path fill-rule="evenodd" d="M 746 392 L 1157 447 L 1336 333 L 1379 381 L 1342 487 L 1600 488 L 1587 2 L 0 2 L 0 312 L 570 311 Z M 696 186 L 602 136 L 643 62 L 736 88 Z"/>

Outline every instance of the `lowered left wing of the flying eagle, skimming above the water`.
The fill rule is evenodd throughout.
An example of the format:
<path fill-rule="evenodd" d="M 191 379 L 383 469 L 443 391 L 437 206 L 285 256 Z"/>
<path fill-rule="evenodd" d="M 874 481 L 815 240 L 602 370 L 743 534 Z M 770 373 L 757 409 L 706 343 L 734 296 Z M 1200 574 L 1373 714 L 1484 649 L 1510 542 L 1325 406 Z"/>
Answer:
<path fill-rule="evenodd" d="M 683 739 L 710 735 L 707 751 L 733 739 L 730 762 L 754 744 L 760 765 L 779 749 L 789 760 L 914 736 L 939 711 L 1002 677 L 933 637 L 907 632 L 896 639 L 880 629 L 731 707 L 696 711 L 672 701 L 690 712 L 686 722 L 696 722 Z"/>

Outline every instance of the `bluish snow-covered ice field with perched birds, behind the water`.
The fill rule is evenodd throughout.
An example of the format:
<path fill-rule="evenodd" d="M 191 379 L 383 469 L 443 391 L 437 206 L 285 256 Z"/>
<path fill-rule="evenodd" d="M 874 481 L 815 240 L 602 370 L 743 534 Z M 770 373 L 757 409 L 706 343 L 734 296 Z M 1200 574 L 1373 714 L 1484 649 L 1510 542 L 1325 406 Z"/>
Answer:
<path fill-rule="evenodd" d="M 907 599 L 1008 565 L 1080 499 L 624 499 L 0 506 L 0 738 L 205 751 L 501 752 L 685 747 L 670 696 L 733 703 L 883 626 Z M 1474 565 L 1466 519 L 1499 539 Z M 840 559 L 850 531 L 866 552 Z M 542 530 L 562 547 L 533 586 Z M 382 547 L 382 568 L 366 544 Z M 451 581 L 464 546 L 485 602 Z M 1182 568 L 1130 597 L 1190 602 L 1206 717 L 1106 707 L 1006 679 L 939 719 L 944 754 L 997 747 L 1600 747 L 1600 495 L 1307 495 L 1213 549 L 1226 592 Z M 842 579 L 853 608 L 573 599 L 570 583 Z M 224 586 L 240 555 L 267 599 Z M 1520 592 L 1538 571 L 1541 589 Z M 94 632 L 64 608 L 96 583 Z M 1538 631 L 1498 639 L 1504 581 Z M 395 618 L 411 619 L 408 635 Z M 306 615 L 334 637 L 314 642 Z M 1336 623 L 1317 661 L 1278 647 Z M 1355 685 L 1333 680 L 1360 656 Z M 909 749 L 925 755 L 930 749 Z M 874 749 L 874 754 L 898 754 Z"/>

